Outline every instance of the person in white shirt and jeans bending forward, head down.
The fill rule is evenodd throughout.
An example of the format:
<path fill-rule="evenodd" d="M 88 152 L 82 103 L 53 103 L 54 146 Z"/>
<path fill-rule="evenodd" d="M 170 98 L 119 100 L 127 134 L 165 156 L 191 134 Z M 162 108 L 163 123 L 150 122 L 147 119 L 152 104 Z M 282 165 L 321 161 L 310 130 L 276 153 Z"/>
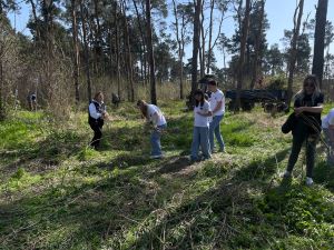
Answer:
<path fill-rule="evenodd" d="M 151 159 L 163 158 L 161 151 L 161 133 L 167 128 L 166 118 L 164 117 L 161 110 L 155 104 L 148 104 L 144 100 L 137 102 L 137 107 L 140 109 L 143 117 L 146 118 L 154 127 L 154 130 L 150 134 L 150 144 L 151 144 Z"/>

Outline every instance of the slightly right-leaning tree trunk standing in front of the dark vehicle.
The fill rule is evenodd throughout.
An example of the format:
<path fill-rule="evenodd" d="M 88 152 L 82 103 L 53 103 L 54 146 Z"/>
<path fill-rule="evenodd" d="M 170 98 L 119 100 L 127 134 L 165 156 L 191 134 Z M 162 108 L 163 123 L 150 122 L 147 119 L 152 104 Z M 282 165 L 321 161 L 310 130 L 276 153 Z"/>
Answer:
<path fill-rule="evenodd" d="M 242 88 L 244 80 L 244 67 L 245 67 L 245 51 L 246 51 L 246 41 L 248 37 L 249 29 L 249 12 L 250 12 L 250 0 L 246 0 L 246 10 L 245 17 L 242 27 L 242 41 L 240 41 L 240 58 L 238 62 L 238 77 L 237 77 L 237 91 L 236 91 L 236 106 L 235 111 L 238 112 L 242 106 L 240 97 L 242 97 Z"/>

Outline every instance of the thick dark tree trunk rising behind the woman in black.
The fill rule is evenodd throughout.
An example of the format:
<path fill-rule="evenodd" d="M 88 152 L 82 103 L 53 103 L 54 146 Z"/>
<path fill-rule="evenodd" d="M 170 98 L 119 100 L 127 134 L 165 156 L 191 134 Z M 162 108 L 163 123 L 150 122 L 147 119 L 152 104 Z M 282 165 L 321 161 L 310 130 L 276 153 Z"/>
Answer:
<path fill-rule="evenodd" d="M 317 1 L 312 73 L 317 76 L 321 88 L 322 88 L 322 80 L 324 73 L 324 50 L 325 50 L 324 41 L 325 41 L 327 7 L 328 7 L 328 0 Z"/>

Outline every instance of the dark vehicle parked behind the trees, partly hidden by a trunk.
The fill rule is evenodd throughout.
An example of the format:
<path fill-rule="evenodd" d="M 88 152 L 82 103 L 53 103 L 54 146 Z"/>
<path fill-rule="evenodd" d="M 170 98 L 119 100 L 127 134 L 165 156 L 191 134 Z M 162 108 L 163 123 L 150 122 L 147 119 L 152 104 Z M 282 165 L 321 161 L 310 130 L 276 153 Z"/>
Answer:
<path fill-rule="evenodd" d="M 233 111 L 236 104 L 236 90 L 227 90 L 226 98 L 230 99 L 228 102 L 228 110 Z M 240 92 L 240 108 L 244 111 L 250 111 L 255 103 L 262 103 L 265 112 L 283 112 L 288 111 L 286 104 L 287 91 L 286 90 L 242 90 Z"/>

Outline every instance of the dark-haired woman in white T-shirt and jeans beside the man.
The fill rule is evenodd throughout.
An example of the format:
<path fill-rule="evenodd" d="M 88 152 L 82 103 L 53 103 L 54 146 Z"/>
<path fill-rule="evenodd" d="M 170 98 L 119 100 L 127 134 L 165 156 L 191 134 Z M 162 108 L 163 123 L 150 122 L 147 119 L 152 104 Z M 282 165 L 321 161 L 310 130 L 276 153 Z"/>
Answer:
<path fill-rule="evenodd" d="M 209 131 L 209 117 L 212 116 L 210 106 L 205 100 L 204 92 L 196 90 L 195 93 L 195 108 L 194 108 L 194 134 L 191 143 L 191 161 L 200 160 L 198 157 L 198 150 L 200 150 L 204 159 L 210 158 L 210 148 L 208 140 Z"/>

